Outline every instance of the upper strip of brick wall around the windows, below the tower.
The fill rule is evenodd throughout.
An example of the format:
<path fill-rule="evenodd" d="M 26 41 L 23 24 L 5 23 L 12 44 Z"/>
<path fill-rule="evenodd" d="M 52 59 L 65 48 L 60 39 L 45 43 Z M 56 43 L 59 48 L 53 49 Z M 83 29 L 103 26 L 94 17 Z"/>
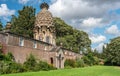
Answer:
<path fill-rule="evenodd" d="M 13 46 L 20 46 L 20 37 L 21 36 L 17 36 L 14 34 L 9 34 L 8 36 L 8 45 L 13 45 Z M 38 40 L 34 40 L 34 39 L 30 39 L 30 38 L 26 38 L 26 37 L 22 37 L 24 39 L 24 47 L 26 48 L 34 48 L 34 42 L 36 42 L 37 44 L 37 48 L 36 49 L 40 49 L 40 50 L 48 50 L 50 48 L 52 48 L 53 46 L 51 44 L 45 43 L 45 42 L 41 42 Z"/>

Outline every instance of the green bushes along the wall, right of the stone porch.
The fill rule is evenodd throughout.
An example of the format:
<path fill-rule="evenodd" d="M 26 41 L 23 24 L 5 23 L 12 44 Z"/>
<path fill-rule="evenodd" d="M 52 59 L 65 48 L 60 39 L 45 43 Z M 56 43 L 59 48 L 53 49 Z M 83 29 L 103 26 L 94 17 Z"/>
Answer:
<path fill-rule="evenodd" d="M 76 58 L 76 60 L 66 59 L 64 66 L 65 68 L 75 68 L 99 64 L 102 65 L 100 63 L 100 59 L 96 55 L 94 55 L 94 52 L 91 49 L 88 49 L 81 58 Z"/>

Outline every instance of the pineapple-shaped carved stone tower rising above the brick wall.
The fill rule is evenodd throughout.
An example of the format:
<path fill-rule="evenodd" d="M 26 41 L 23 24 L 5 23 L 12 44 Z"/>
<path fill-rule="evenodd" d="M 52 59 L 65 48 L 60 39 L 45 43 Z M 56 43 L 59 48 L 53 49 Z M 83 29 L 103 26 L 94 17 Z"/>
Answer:
<path fill-rule="evenodd" d="M 41 11 L 37 14 L 34 27 L 34 38 L 55 45 L 55 27 L 49 5 L 42 3 Z"/>

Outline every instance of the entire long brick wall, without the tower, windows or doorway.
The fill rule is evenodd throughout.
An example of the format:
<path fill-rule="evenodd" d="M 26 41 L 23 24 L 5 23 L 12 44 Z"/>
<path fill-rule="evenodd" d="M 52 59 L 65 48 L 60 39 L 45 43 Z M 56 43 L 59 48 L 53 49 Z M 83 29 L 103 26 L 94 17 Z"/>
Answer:
<path fill-rule="evenodd" d="M 59 60 L 57 60 L 56 54 L 59 53 L 58 50 L 60 49 L 55 49 L 56 51 L 51 52 L 51 49 L 54 47 L 53 45 L 26 37 L 23 37 L 24 46 L 20 46 L 20 37 L 22 36 L 11 33 L 0 33 L 0 42 L 4 45 L 4 53 L 11 52 L 15 61 L 19 63 L 24 63 L 30 54 L 33 54 L 38 60 L 46 61 L 49 64 L 51 64 L 52 58 L 53 66 L 59 67 Z M 34 41 L 37 43 L 37 48 L 33 47 Z M 66 59 L 76 59 L 77 57 L 82 57 L 80 54 L 74 53 L 70 50 L 62 50 L 64 55 L 64 60 L 61 63 L 62 67 L 64 67 L 64 61 Z"/>

